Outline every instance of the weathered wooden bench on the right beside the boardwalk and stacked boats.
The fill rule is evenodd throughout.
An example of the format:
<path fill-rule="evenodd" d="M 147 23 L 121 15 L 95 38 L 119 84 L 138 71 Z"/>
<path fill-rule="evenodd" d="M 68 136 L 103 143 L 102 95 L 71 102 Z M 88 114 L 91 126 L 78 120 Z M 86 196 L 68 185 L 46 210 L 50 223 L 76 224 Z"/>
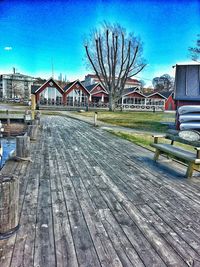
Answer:
<path fill-rule="evenodd" d="M 156 149 L 154 160 L 157 161 L 160 154 L 166 154 L 169 157 L 175 157 L 179 160 L 188 164 L 186 177 L 192 177 L 193 171 L 198 165 L 200 165 L 200 142 L 191 142 L 180 138 L 179 136 L 174 136 L 172 134 L 166 135 L 153 135 L 154 143 L 151 144 L 152 147 Z M 159 143 L 159 138 L 165 138 L 171 141 L 170 144 Z M 180 148 L 174 145 L 174 142 L 187 144 L 193 146 L 196 152 L 188 151 L 184 148 Z"/>

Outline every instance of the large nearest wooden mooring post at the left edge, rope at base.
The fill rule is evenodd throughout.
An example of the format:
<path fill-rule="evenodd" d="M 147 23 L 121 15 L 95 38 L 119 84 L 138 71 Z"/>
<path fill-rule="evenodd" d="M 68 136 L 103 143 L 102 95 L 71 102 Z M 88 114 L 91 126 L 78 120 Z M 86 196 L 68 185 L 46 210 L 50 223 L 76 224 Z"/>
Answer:
<path fill-rule="evenodd" d="M 19 180 L 0 174 L 0 239 L 10 237 L 19 228 Z"/>

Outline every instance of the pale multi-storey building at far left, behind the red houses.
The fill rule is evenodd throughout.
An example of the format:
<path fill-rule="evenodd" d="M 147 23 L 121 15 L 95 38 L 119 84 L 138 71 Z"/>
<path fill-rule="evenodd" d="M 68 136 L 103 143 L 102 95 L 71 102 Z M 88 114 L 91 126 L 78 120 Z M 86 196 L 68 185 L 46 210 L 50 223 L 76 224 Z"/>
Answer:
<path fill-rule="evenodd" d="M 31 94 L 31 85 L 35 78 L 21 73 L 0 75 L 0 99 L 25 99 L 28 100 Z"/>

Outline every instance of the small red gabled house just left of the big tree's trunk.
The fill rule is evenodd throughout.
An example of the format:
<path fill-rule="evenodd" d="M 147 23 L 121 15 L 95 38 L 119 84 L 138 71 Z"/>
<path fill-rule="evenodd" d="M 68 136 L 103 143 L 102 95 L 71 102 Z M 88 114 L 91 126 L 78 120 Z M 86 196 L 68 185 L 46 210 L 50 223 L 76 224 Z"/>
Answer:
<path fill-rule="evenodd" d="M 109 102 L 108 92 L 100 83 L 86 86 L 86 89 L 90 93 L 89 102 L 93 103 L 94 106 L 107 104 Z"/>

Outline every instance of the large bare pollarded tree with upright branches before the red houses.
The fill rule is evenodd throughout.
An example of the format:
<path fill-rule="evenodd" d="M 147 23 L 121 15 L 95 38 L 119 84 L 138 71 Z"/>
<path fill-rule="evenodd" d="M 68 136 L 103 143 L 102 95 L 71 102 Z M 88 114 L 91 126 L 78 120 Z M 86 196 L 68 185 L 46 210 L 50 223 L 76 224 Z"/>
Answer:
<path fill-rule="evenodd" d="M 118 24 L 104 23 L 91 32 L 85 50 L 90 66 L 109 93 L 109 110 L 114 111 L 127 79 L 144 69 L 142 43 Z"/>

